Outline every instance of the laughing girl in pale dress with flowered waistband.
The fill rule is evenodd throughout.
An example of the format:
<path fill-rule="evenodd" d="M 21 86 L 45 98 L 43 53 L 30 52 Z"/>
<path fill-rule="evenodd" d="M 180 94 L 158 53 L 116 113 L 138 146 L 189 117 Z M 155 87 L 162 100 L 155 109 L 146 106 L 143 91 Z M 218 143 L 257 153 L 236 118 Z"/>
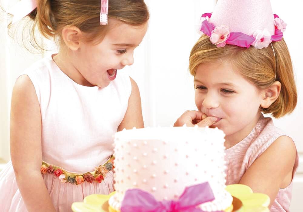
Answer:
<path fill-rule="evenodd" d="M 11 13 L 60 48 L 15 83 L 0 211 L 72 211 L 114 191 L 112 135 L 144 127 L 138 86 L 118 69 L 134 62 L 149 12 L 143 0 L 22 0 Z"/>

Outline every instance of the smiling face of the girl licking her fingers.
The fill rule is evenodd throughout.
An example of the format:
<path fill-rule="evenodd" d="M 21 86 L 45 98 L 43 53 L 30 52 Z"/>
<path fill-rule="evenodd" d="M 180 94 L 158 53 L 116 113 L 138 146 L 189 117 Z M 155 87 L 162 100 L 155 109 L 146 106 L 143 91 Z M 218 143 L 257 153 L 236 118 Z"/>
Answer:
<path fill-rule="evenodd" d="M 241 140 L 255 126 L 261 115 L 261 92 L 229 62 L 200 64 L 194 84 L 198 110 L 218 118 L 212 126 L 223 130 L 225 139 Z"/>

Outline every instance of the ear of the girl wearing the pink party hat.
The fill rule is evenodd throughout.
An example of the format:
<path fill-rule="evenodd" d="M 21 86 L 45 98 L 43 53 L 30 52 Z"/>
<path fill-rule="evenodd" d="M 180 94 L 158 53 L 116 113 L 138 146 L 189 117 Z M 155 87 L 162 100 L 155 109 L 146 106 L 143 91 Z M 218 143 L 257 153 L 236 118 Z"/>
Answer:
<path fill-rule="evenodd" d="M 268 108 L 278 99 L 281 91 L 281 82 L 275 81 L 267 89 L 262 91 L 261 107 Z"/>

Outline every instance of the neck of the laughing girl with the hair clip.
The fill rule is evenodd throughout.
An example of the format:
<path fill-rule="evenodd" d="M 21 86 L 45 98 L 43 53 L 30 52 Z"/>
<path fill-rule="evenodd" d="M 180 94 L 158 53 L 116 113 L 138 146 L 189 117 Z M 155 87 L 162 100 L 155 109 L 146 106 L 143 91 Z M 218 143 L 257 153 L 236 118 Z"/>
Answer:
<path fill-rule="evenodd" d="M 94 86 L 89 83 L 74 66 L 73 61 L 75 61 L 75 59 L 72 56 L 74 54 L 71 54 L 70 51 L 71 50 L 69 49 L 64 52 L 60 50 L 58 54 L 52 56 L 52 59 L 55 61 L 60 70 L 77 84 L 89 87 Z"/>

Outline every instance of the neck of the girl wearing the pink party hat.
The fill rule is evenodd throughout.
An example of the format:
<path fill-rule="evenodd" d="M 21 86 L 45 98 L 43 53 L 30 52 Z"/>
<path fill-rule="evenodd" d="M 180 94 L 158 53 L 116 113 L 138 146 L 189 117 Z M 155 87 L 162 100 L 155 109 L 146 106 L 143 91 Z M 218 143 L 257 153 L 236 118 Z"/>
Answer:
<path fill-rule="evenodd" d="M 260 111 L 260 113 L 258 113 L 255 116 L 255 119 L 251 123 L 249 123 L 247 126 L 245 126 L 242 130 L 240 130 L 240 131 L 238 131 L 238 132 L 236 132 L 234 134 L 225 136 L 225 143 L 224 143 L 225 148 L 229 149 L 232 146 L 235 146 L 241 140 L 245 139 L 246 136 L 249 135 L 249 133 L 251 132 L 251 130 L 254 129 L 254 127 L 258 123 L 259 119 L 261 119 L 262 117 L 263 117 L 263 114 Z"/>

